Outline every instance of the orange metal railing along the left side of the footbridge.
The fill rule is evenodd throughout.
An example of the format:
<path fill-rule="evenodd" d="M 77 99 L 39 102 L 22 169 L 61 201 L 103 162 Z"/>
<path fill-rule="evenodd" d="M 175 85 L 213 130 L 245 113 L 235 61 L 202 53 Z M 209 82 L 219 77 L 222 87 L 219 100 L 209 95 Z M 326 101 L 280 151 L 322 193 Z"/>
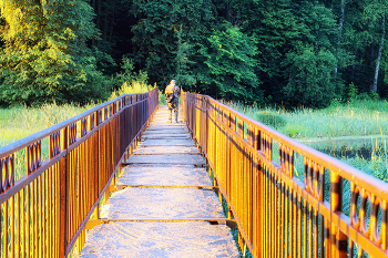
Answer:
<path fill-rule="evenodd" d="M 1 257 L 67 257 L 82 247 L 157 94 L 120 96 L 0 148 Z"/>

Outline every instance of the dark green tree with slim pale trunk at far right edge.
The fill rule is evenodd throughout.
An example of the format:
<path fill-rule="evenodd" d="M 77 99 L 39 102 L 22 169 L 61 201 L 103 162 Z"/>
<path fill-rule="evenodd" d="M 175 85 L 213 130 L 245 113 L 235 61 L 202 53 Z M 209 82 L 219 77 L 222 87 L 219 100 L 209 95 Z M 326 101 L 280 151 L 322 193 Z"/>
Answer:
<path fill-rule="evenodd" d="M 386 0 L 346 3 L 341 48 L 351 53 L 354 59 L 343 69 L 343 73 L 346 81 L 357 85 L 360 93 L 375 90 L 382 92 L 377 84 L 380 66 L 385 66 L 386 12 Z"/>

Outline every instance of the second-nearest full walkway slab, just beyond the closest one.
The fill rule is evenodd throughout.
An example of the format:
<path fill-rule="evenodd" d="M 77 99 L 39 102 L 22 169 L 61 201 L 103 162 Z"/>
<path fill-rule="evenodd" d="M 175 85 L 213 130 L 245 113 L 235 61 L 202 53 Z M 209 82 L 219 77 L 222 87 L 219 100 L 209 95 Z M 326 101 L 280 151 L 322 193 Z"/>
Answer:
<path fill-rule="evenodd" d="M 213 190 L 127 187 L 112 194 L 101 218 L 225 218 Z"/>

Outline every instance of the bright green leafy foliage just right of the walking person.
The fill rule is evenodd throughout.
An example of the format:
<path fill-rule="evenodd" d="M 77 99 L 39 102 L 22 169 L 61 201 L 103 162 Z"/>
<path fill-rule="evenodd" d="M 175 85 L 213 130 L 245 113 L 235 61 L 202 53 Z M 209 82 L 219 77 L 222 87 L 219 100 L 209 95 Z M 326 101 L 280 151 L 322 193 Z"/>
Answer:
<path fill-rule="evenodd" d="M 225 100 L 261 102 L 259 81 L 254 72 L 257 66 L 254 40 L 224 23 L 223 30 L 214 30 L 206 43 L 201 45 L 200 53 L 205 58 L 208 72 L 201 82 L 210 85 L 208 91 Z"/>

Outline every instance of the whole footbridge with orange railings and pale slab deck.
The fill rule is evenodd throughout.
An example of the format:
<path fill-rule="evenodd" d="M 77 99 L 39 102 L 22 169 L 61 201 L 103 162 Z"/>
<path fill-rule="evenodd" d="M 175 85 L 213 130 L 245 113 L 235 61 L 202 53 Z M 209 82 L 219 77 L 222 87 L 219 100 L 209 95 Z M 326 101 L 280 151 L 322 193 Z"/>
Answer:
<path fill-rule="evenodd" d="M 388 257 L 388 184 L 182 93 L 0 148 L 1 257 Z"/>

